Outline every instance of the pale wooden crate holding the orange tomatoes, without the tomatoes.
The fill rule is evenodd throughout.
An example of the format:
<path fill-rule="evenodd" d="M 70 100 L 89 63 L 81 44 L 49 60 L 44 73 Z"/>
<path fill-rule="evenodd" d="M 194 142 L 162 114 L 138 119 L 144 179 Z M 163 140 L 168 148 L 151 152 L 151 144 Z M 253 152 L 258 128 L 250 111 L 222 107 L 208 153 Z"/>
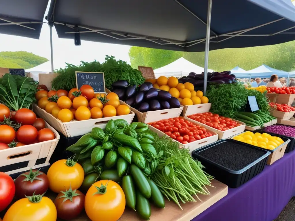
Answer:
<path fill-rule="evenodd" d="M 121 100 L 120 103 L 127 105 Z M 85 133 L 91 132 L 92 128 L 94 127 L 104 129 L 108 121 L 111 119 L 124 119 L 130 124 L 135 116 L 135 113 L 131 110 L 129 114 L 122 116 L 104 117 L 98 119 L 91 118 L 89 120 L 84 121 L 73 120 L 70 122 L 63 123 L 59 119 L 55 118 L 52 114 L 47 113 L 45 110 L 39 108 L 36 104 L 33 104 L 33 110 L 39 117 L 43 118 L 46 122 L 53 126 L 57 131 L 62 133 L 65 137 L 84 135 Z"/>

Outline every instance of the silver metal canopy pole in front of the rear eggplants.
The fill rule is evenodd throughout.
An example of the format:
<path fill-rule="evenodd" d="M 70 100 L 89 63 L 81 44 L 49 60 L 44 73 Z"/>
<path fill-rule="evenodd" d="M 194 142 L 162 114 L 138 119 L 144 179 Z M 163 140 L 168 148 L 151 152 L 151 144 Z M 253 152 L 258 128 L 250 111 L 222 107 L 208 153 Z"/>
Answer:
<path fill-rule="evenodd" d="M 204 95 L 206 95 L 207 79 L 208 79 L 208 60 L 209 60 L 211 9 L 212 9 L 212 0 L 208 0 L 207 30 L 206 30 L 206 43 L 205 43 L 205 65 L 204 65 Z"/>

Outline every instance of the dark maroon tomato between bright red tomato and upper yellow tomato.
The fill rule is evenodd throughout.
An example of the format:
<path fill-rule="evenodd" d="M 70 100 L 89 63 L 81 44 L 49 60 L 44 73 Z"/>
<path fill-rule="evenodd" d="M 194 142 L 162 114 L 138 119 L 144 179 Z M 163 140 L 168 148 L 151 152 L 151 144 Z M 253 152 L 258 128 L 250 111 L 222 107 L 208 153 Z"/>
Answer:
<path fill-rule="evenodd" d="M 31 169 L 29 172 L 19 175 L 14 184 L 16 187 L 15 196 L 25 198 L 32 196 L 34 192 L 36 195 L 45 193 L 49 187 L 49 180 L 45 173 Z"/>

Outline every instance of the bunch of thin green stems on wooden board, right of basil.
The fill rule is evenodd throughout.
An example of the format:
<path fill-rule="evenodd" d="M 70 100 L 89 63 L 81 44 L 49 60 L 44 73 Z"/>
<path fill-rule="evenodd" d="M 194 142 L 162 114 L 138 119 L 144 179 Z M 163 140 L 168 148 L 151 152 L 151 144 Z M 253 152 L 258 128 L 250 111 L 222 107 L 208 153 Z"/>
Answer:
<path fill-rule="evenodd" d="M 181 208 L 178 200 L 183 203 L 196 202 L 193 195 L 199 199 L 198 193 L 210 194 L 206 185 L 211 186 L 209 180 L 213 177 L 202 170 L 203 166 L 190 156 L 189 150 L 179 149 L 178 143 L 171 138 L 159 138 L 155 133 L 153 135 L 154 147 L 159 153 L 159 165 L 150 178 L 163 195 Z"/>

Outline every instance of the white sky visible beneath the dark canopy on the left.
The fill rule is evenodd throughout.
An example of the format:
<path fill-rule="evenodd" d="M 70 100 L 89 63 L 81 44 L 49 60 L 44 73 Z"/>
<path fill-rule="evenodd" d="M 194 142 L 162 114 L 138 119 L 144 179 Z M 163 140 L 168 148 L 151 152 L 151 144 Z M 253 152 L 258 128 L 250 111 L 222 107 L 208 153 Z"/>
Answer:
<path fill-rule="evenodd" d="M 47 14 L 47 11 L 48 7 L 45 14 Z M 105 55 L 112 55 L 117 60 L 130 63 L 128 55 L 130 46 L 87 41 L 81 41 L 80 46 L 75 46 L 73 39 L 59 39 L 54 27 L 52 28 L 52 38 L 54 69 L 65 67 L 64 62 L 74 65 L 80 64 L 81 60 L 91 62 L 96 59 L 99 62 L 104 62 Z M 2 42 L 0 52 L 27 51 L 50 60 L 50 32 L 46 23 L 42 26 L 39 40 L 0 34 L 0 42 Z"/>

